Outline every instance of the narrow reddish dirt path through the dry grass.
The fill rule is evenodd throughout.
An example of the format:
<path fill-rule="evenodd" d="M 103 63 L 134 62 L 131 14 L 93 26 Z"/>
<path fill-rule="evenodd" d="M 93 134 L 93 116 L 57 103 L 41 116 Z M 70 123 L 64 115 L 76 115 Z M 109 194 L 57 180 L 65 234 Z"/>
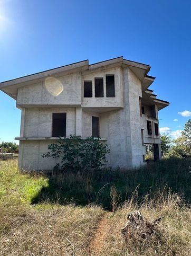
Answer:
<path fill-rule="evenodd" d="M 89 245 L 89 252 L 90 255 L 103 255 L 103 243 L 106 239 L 106 236 L 109 232 L 109 221 L 108 216 L 110 215 L 110 212 L 107 212 L 104 214 L 102 219 L 100 220 L 98 224 L 98 228 L 96 231 L 95 236 L 93 237 L 92 241 Z"/>

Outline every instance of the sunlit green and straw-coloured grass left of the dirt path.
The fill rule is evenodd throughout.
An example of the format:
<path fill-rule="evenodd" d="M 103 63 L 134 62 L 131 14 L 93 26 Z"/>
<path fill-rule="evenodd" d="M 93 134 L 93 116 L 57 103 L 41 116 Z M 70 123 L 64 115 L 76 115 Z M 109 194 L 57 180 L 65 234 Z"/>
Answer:
<path fill-rule="evenodd" d="M 97 206 L 30 205 L 46 185 L 0 161 L 0 255 L 84 255 L 104 214 Z"/>

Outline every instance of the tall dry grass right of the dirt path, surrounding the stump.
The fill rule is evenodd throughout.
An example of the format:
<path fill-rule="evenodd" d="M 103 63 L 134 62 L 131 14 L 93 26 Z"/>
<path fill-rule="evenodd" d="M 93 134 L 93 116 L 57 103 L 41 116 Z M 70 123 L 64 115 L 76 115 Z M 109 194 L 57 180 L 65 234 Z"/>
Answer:
<path fill-rule="evenodd" d="M 181 205 L 179 196 L 169 191 L 166 197 L 161 194 L 158 200 L 145 200 L 139 207 L 142 216 L 151 221 L 164 217 L 157 226 L 158 234 L 142 241 L 134 232 L 125 241 L 120 229 L 127 222 L 127 214 L 135 209 L 137 206 L 128 202 L 110 216 L 110 230 L 100 255 L 190 255 L 191 210 Z"/>

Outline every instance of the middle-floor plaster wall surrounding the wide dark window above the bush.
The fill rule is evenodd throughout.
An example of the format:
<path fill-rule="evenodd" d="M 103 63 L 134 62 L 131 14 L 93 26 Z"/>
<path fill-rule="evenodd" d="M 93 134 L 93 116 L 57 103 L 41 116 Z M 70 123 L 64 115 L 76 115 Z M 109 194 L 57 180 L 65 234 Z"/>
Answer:
<path fill-rule="evenodd" d="M 56 112 L 66 112 L 66 136 L 75 134 L 75 108 L 27 108 L 24 137 L 51 137 L 52 113 Z"/>

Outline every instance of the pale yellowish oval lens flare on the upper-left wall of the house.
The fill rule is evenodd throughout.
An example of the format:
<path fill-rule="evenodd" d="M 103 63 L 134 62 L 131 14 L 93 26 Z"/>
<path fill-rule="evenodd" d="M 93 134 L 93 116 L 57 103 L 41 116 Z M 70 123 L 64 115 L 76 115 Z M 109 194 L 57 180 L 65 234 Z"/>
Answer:
<path fill-rule="evenodd" d="M 58 96 L 63 91 L 62 83 L 54 77 L 47 77 L 45 79 L 45 87 L 54 96 Z"/>

